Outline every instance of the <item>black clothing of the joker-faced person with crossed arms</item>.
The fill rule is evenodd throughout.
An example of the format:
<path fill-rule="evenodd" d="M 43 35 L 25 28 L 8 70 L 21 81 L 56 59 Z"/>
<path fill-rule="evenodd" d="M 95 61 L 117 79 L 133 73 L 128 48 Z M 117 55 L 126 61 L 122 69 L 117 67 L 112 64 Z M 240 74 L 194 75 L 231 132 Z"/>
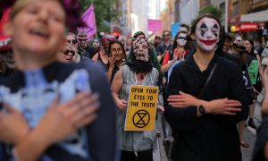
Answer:
<path fill-rule="evenodd" d="M 235 116 L 204 114 L 197 118 L 197 106 L 174 108 L 166 105 L 164 116 L 176 132 L 173 160 L 180 161 L 239 161 L 241 152 L 237 123 L 247 118 L 248 103 L 242 72 L 237 64 L 214 55 L 204 72 L 195 63 L 193 55 L 176 65 L 168 85 L 168 95 L 179 91 L 198 97 L 214 64 L 212 79 L 203 92 L 203 100 L 228 97 L 239 100 L 242 111 Z"/>

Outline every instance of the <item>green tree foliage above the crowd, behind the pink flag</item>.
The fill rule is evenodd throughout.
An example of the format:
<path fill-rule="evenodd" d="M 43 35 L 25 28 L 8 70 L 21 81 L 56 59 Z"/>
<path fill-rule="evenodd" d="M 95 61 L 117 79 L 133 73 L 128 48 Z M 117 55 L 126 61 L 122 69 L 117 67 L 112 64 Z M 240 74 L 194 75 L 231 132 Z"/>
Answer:
<path fill-rule="evenodd" d="M 94 4 L 97 31 L 109 32 L 109 23 L 118 22 L 117 18 L 120 15 L 113 7 L 117 2 L 118 0 L 80 0 L 81 12 L 84 13 L 90 4 Z"/>

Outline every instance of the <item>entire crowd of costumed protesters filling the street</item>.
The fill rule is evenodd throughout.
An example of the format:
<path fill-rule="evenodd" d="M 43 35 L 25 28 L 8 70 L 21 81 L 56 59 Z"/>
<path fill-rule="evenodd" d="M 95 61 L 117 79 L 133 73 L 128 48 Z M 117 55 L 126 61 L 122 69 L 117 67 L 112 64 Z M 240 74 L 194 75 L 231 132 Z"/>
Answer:
<path fill-rule="evenodd" d="M 230 36 L 213 14 L 181 24 L 174 38 L 163 30 L 89 39 L 76 30 L 77 1 L 10 1 L 1 12 L 0 161 L 153 161 L 162 133 L 175 140 L 174 161 L 239 161 L 249 146 L 253 160 L 268 159 L 268 44 Z M 156 123 L 125 131 L 132 85 L 159 87 L 157 119 L 169 134 Z M 247 126 L 259 128 L 255 145 L 243 139 Z"/>

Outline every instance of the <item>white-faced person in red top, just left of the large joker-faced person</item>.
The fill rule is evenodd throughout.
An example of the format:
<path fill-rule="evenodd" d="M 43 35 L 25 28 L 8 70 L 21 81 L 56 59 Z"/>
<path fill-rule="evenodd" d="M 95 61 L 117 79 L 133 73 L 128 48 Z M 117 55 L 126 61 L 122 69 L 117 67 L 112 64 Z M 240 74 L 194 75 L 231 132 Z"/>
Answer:
<path fill-rule="evenodd" d="M 187 45 L 187 32 L 179 31 L 173 42 L 172 52 L 168 52 L 163 57 L 163 64 L 161 67 L 162 72 L 167 72 L 172 64 L 178 60 L 184 60 L 185 56 L 188 55 Z"/>

